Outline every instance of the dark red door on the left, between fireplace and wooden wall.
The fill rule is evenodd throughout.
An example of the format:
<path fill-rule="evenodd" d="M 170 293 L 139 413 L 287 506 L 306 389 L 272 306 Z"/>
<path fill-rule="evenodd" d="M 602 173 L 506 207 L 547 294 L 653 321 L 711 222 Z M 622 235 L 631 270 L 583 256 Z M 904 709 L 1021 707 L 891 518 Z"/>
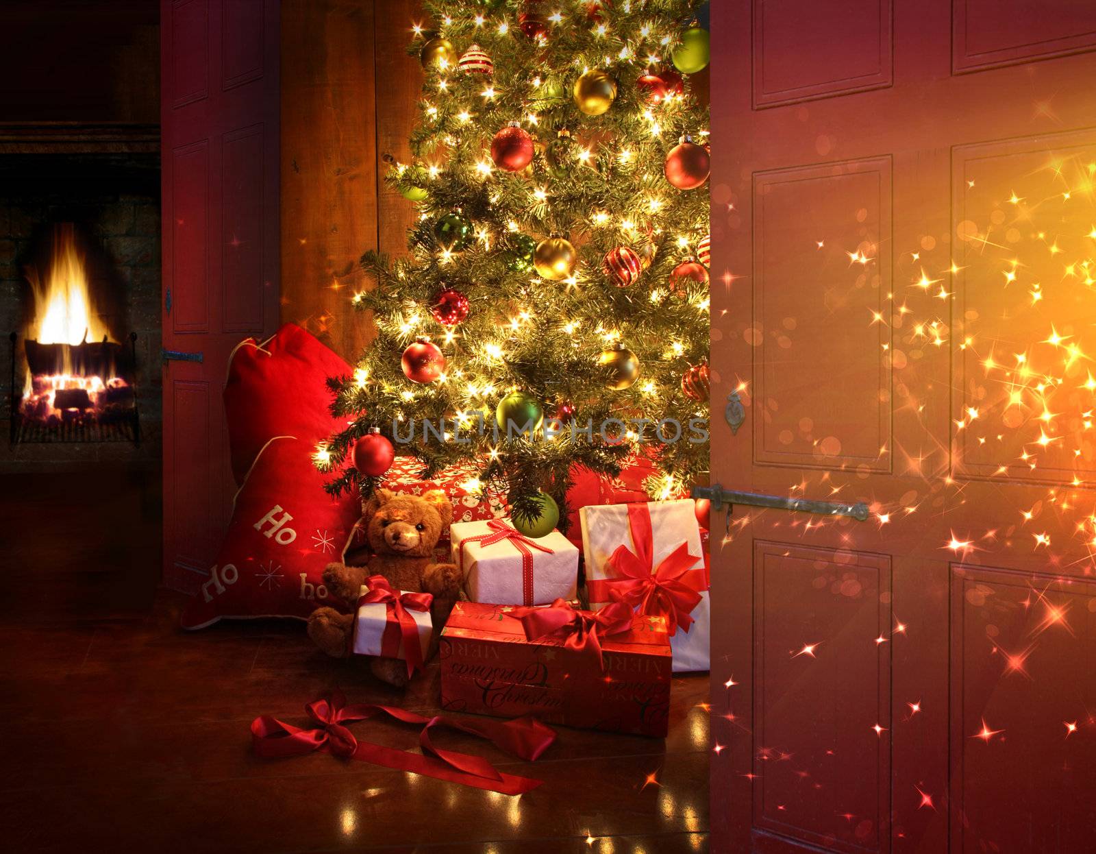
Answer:
<path fill-rule="evenodd" d="M 164 583 L 193 591 L 235 493 L 228 356 L 278 318 L 278 3 L 161 0 L 160 14 L 163 348 L 176 354 L 163 364 Z"/>

